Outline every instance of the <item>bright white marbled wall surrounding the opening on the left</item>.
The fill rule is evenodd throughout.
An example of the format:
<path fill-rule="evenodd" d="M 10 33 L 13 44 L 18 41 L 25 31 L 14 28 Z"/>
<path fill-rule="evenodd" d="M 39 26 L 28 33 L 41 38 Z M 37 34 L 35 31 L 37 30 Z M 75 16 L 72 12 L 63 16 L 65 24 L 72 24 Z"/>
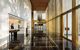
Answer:
<path fill-rule="evenodd" d="M 8 42 L 8 13 L 27 20 L 31 17 L 31 4 L 29 0 L 0 0 L 0 46 Z M 29 20 L 31 19 L 29 18 Z"/>

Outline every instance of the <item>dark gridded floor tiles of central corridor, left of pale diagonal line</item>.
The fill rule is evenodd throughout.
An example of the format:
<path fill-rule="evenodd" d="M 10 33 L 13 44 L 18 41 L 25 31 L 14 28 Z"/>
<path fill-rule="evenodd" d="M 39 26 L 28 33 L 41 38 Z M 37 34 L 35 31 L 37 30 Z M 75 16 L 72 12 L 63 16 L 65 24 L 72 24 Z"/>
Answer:
<path fill-rule="evenodd" d="M 51 43 L 48 39 L 46 34 L 36 33 L 36 35 L 33 36 L 32 41 L 32 50 L 58 50 L 56 45 Z"/>

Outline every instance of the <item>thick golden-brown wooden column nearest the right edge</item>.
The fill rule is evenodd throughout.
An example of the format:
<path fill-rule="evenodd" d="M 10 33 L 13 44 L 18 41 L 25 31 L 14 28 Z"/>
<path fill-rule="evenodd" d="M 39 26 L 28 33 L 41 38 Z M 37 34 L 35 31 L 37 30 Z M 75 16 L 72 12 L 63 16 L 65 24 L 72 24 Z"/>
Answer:
<path fill-rule="evenodd" d="M 72 8 L 76 6 L 76 0 L 72 0 Z M 78 47 L 78 21 L 76 10 L 72 11 L 72 50 L 77 50 Z"/>

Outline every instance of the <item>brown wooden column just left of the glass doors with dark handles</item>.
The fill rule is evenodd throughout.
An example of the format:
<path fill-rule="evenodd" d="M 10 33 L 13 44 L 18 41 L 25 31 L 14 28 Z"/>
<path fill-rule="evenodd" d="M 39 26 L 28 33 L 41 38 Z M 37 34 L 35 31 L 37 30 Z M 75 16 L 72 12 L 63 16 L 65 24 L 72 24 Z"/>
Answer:
<path fill-rule="evenodd" d="M 61 0 L 60 1 L 60 6 L 61 6 L 61 8 L 60 8 L 60 10 L 61 10 L 61 13 L 62 13 L 62 10 L 63 10 L 63 6 L 62 6 L 62 1 L 63 0 Z M 61 40 L 61 43 L 60 43 L 60 50 L 63 50 L 63 15 L 61 15 L 61 17 L 60 17 L 60 40 Z"/>

